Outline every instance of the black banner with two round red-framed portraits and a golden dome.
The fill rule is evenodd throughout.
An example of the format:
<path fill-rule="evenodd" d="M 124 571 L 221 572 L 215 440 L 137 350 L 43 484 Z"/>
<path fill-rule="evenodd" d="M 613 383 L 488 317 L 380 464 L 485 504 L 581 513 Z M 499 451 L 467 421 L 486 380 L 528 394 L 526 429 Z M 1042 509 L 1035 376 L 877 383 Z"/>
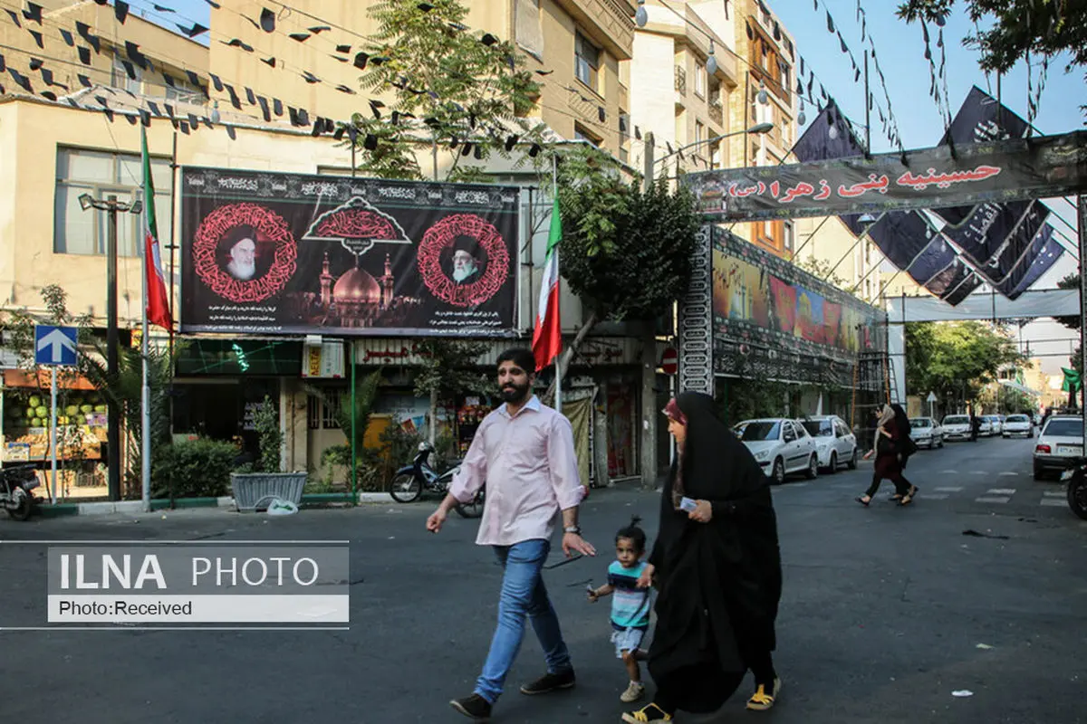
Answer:
<path fill-rule="evenodd" d="M 513 336 L 516 187 L 182 168 L 182 332 Z"/>

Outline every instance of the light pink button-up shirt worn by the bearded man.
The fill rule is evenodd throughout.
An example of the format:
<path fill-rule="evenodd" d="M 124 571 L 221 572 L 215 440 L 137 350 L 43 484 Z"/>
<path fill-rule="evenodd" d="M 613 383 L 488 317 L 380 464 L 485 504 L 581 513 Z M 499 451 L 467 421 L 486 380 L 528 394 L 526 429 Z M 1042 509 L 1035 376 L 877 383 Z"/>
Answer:
<path fill-rule="evenodd" d="M 574 429 L 536 395 L 510 417 L 502 405 L 479 423 L 449 492 L 467 503 L 487 484 L 476 543 L 550 539 L 555 513 L 582 501 Z"/>

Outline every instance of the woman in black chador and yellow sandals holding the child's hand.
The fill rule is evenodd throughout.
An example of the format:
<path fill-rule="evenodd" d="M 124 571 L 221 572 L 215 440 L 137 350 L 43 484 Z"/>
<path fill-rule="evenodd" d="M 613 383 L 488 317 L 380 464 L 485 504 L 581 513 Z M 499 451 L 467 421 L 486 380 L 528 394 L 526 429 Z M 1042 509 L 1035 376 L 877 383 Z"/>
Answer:
<path fill-rule="evenodd" d="M 780 688 L 771 652 L 782 559 L 766 475 L 709 395 L 685 392 L 664 414 L 678 455 L 639 582 L 658 589 L 648 663 L 657 694 L 623 721 L 716 711 L 748 669 L 755 682 L 748 709 L 770 709 Z"/>

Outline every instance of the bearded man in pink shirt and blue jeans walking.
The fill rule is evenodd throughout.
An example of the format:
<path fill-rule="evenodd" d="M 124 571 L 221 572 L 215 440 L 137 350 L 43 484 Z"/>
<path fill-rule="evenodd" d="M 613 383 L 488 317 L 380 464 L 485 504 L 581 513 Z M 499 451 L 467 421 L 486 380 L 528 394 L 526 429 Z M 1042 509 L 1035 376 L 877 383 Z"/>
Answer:
<path fill-rule="evenodd" d="M 505 404 L 479 424 L 449 494 L 427 519 L 432 533 L 457 501 L 467 503 L 487 484 L 476 544 L 492 546 L 504 570 L 498 626 L 475 691 L 450 704 L 465 716 L 486 720 L 502 694 L 532 621 L 547 659 L 547 673 L 521 687 L 547 694 L 574 686 L 574 668 L 541 576 L 551 548 L 555 513 L 562 511 L 562 550 L 595 556 L 582 538 L 577 506 L 585 495 L 574 452 L 574 431 L 562 415 L 532 393 L 536 359 L 529 350 L 508 350 L 498 358 L 498 386 Z"/>

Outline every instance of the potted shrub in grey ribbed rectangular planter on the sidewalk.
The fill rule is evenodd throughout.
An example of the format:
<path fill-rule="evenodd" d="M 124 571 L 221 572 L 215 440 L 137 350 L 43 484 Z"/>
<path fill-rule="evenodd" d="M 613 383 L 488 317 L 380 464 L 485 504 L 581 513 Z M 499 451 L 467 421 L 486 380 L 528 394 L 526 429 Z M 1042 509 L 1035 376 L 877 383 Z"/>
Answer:
<path fill-rule="evenodd" d="M 253 424 L 257 428 L 260 457 L 253 463 L 253 472 L 230 473 L 235 507 L 239 511 L 257 510 L 262 504 L 267 507 L 275 498 L 297 506 L 302 501 L 307 473 L 283 472 L 279 469 L 283 432 L 279 430 L 279 416 L 270 396 L 264 396 L 264 402 L 253 415 Z"/>

